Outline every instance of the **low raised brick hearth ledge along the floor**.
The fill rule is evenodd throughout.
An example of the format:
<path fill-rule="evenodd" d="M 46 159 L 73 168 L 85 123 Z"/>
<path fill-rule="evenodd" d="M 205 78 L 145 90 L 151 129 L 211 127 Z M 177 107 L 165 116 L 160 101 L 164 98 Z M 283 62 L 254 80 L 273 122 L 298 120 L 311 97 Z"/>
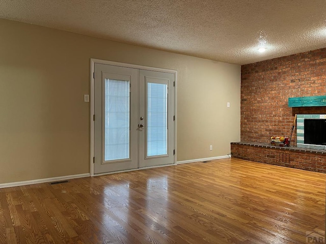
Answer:
<path fill-rule="evenodd" d="M 326 173 L 326 152 L 231 143 L 233 158 Z"/>

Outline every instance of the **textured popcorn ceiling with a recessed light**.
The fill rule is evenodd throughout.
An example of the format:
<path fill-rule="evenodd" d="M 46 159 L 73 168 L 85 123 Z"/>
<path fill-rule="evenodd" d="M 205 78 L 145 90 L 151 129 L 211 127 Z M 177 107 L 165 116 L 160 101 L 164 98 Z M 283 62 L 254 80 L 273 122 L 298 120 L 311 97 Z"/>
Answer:
<path fill-rule="evenodd" d="M 240 65 L 326 47 L 325 0 L 0 0 L 0 18 Z"/>

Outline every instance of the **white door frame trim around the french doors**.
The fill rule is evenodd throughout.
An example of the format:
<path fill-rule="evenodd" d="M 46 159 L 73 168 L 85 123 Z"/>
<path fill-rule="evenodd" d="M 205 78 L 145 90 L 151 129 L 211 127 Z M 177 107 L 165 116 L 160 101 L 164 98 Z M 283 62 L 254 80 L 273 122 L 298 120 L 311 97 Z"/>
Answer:
<path fill-rule="evenodd" d="M 94 176 L 94 67 L 95 64 L 103 64 L 103 65 L 112 65 L 112 66 L 120 66 L 120 67 L 126 67 L 126 68 L 134 68 L 134 69 L 141 69 L 141 70 L 149 70 L 149 71 L 157 71 L 157 72 L 165 72 L 165 73 L 171 73 L 174 75 L 174 81 L 175 81 L 175 87 L 174 87 L 174 164 L 177 163 L 177 74 L 178 72 L 176 70 L 167 70 L 167 69 L 160 69 L 160 68 L 153 68 L 153 67 L 147 67 L 147 66 L 141 66 L 141 65 L 132 65 L 132 64 L 124 64 L 124 63 L 118 63 L 113 61 L 107 61 L 107 60 L 101 60 L 96 58 L 91 58 L 91 69 L 90 69 L 90 174 L 91 176 Z M 156 166 L 157 167 L 157 166 Z M 148 167 L 150 168 L 150 167 Z M 144 169 L 144 168 L 142 168 Z M 127 170 L 129 171 L 129 170 Z M 116 173 L 116 172 L 114 172 Z M 104 174 L 110 174 L 104 173 Z M 96 174 L 99 175 L 99 174 Z"/>

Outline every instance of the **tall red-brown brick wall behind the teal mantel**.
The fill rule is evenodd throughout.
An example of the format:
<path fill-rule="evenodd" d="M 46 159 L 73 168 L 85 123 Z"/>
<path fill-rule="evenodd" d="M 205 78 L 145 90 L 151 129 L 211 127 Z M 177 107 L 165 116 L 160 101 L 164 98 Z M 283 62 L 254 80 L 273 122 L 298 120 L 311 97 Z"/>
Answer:
<path fill-rule="evenodd" d="M 289 108 L 288 98 L 323 95 L 326 48 L 241 66 L 241 141 L 290 137 L 296 113 L 326 114 L 326 107 Z"/>

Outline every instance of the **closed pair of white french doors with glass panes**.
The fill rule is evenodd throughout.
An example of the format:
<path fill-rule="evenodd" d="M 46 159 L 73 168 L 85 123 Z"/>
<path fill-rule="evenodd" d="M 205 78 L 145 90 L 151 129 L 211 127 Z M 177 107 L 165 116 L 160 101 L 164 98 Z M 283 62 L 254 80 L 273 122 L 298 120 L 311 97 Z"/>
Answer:
<path fill-rule="evenodd" d="M 174 75 L 95 64 L 94 173 L 173 164 Z"/>

